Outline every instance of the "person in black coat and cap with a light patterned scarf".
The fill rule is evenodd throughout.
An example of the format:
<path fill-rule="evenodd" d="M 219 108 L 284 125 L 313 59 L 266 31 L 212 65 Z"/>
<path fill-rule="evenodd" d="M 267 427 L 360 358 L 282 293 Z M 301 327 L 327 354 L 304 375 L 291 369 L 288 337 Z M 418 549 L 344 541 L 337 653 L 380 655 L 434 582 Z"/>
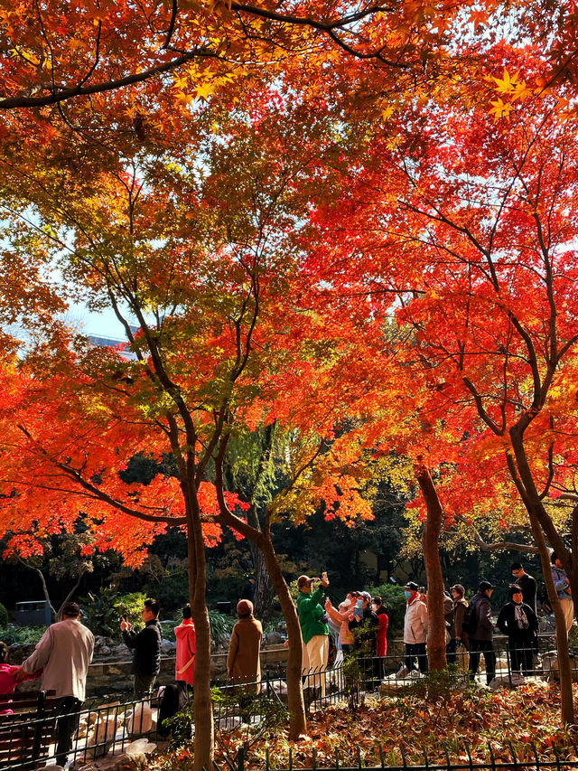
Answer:
<path fill-rule="evenodd" d="M 523 601 L 522 588 L 512 584 L 508 589 L 509 602 L 498 616 L 499 630 L 508 636 L 512 672 L 526 677 L 534 671 L 534 648 L 538 633 L 538 619 L 532 608 Z"/>

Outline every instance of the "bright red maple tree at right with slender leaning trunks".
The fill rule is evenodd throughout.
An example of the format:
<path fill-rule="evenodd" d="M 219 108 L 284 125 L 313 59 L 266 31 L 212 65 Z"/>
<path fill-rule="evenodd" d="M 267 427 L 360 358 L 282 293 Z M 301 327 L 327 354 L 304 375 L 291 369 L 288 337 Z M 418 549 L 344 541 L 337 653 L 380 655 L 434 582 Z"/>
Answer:
<path fill-rule="evenodd" d="M 348 292 L 370 296 L 374 313 L 395 313 L 411 332 L 392 350 L 399 376 L 420 389 L 408 408 L 451 440 L 445 458 L 433 446 L 439 433 L 428 443 L 418 432 L 416 446 L 429 447 L 433 467 L 462 468 L 461 484 L 443 491 L 447 516 L 468 515 L 464 485 L 480 473 L 521 501 L 562 630 L 545 539 L 576 591 L 576 552 L 557 510 L 563 495 L 575 497 L 578 308 L 568 212 L 577 146 L 571 92 L 545 92 L 545 67 L 498 46 L 478 71 L 478 92 L 468 83 L 467 94 L 415 99 L 398 119 L 384 117 L 387 133 L 363 146 L 363 170 L 342 185 L 338 205 L 340 240 L 343 230 L 350 235 Z M 345 259 L 335 251 L 332 264 Z M 574 509 L 574 547 L 575 519 Z M 562 631 L 558 644 L 566 666 Z M 573 719 L 565 678 L 563 718 Z"/>

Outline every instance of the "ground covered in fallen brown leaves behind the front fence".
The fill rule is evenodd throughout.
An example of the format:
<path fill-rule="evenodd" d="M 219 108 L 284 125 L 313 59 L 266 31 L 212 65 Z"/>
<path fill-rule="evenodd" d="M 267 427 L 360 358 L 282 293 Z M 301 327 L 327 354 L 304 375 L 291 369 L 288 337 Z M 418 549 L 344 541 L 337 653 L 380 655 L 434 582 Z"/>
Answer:
<path fill-rule="evenodd" d="M 575 695 L 578 695 L 576 691 Z M 577 735 L 578 736 L 578 735 Z M 246 735 L 232 731 L 219 737 L 216 762 L 232 761 Z M 246 749 L 246 767 L 264 768 L 268 753 L 270 766 L 289 767 L 292 750 L 294 768 L 311 768 L 315 753 L 317 766 L 397 766 L 405 755 L 408 765 L 424 764 L 424 749 L 430 763 L 452 760 L 473 762 L 552 757 L 575 760 L 573 727 L 560 723 L 560 691 L 555 683 L 528 682 L 514 691 L 454 691 L 445 698 L 429 698 L 414 691 L 405 696 L 372 698 L 351 711 L 345 702 L 314 712 L 307 735 L 289 742 L 284 729 L 276 729 Z M 191 748 L 181 747 L 164 758 L 164 767 L 183 768 L 191 759 Z"/>

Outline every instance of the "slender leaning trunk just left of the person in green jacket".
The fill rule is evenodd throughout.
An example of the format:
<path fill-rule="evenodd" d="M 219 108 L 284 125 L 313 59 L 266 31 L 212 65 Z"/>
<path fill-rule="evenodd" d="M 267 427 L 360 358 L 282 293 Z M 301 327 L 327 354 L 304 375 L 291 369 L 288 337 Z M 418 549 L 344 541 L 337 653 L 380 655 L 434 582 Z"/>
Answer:
<path fill-rule="evenodd" d="M 301 671 L 303 667 L 301 626 L 297 617 L 297 609 L 289 594 L 289 588 L 283 578 L 279 567 L 273 541 L 269 532 L 261 533 L 262 538 L 258 545 L 263 551 L 269 577 L 273 582 L 275 592 L 281 604 L 285 624 L 287 625 L 287 638 L 289 640 L 289 658 L 287 660 L 287 706 L 289 708 L 289 739 L 294 741 L 307 729 L 305 718 L 305 705 L 303 702 L 303 688 L 301 684 Z"/>

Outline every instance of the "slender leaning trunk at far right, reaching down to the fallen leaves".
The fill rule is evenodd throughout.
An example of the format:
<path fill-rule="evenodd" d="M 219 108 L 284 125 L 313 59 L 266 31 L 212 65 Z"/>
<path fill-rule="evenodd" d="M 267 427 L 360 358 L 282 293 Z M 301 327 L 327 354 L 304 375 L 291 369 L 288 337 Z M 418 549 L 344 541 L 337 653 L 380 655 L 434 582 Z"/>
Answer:
<path fill-rule="evenodd" d="M 548 593 L 550 605 L 554 610 L 556 623 L 556 651 L 558 653 L 558 672 L 560 674 L 560 716 L 564 725 L 573 725 L 574 705 L 572 691 L 572 669 L 570 667 L 570 655 L 568 651 L 568 635 L 566 633 L 566 623 L 564 612 L 560 605 L 560 600 L 556 594 L 552 571 L 550 570 L 550 552 L 546 546 L 544 533 L 537 521 L 536 516 L 530 512 L 530 524 L 536 538 L 536 544 L 540 551 L 540 561 L 542 562 L 542 572 L 544 573 L 545 588 Z"/>

